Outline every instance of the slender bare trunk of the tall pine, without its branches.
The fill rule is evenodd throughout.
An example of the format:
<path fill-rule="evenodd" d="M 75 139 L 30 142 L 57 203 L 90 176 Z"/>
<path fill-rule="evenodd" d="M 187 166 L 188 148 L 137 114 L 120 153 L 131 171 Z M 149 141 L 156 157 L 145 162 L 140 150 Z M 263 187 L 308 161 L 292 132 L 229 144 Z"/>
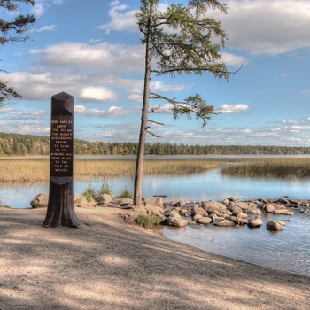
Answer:
<path fill-rule="evenodd" d="M 136 173 L 135 173 L 135 193 L 134 204 L 142 204 L 142 182 L 143 182 L 143 161 L 146 140 L 146 128 L 148 125 L 149 100 L 150 100 L 150 81 L 151 81 L 151 16 L 153 4 L 150 4 L 150 17 L 148 20 L 148 34 L 145 49 L 145 74 L 143 90 L 143 108 L 141 117 L 141 128 L 139 136 L 139 146 L 136 155 Z"/>

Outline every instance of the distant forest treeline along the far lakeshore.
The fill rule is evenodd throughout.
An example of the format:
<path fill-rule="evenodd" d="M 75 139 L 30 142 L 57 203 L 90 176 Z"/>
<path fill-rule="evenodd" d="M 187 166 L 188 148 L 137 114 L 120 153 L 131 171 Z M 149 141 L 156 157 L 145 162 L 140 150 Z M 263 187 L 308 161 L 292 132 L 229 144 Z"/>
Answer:
<path fill-rule="evenodd" d="M 76 155 L 136 155 L 137 143 L 103 143 L 74 139 Z M 49 136 L 0 133 L 0 155 L 48 155 Z M 260 145 L 185 145 L 147 143 L 147 155 L 310 154 L 310 147 Z"/>

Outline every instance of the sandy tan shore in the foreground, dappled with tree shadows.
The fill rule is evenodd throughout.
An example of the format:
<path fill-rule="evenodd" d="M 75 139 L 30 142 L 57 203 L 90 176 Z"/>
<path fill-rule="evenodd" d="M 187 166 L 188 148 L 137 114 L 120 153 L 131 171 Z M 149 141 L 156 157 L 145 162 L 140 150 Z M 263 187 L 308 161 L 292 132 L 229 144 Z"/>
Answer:
<path fill-rule="evenodd" d="M 46 210 L 0 209 L 0 310 L 310 309 L 310 278 L 178 244 L 78 208 L 77 229 Z"/>

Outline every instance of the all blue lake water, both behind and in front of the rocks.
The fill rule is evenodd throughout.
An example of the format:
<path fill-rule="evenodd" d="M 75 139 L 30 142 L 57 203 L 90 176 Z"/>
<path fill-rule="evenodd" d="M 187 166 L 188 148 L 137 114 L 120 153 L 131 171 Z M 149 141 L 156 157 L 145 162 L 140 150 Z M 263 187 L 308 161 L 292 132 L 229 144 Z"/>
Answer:
<path fill-rule="evenodd" d="M 162 159 L 162 158 L 160 158 Z M 133 191 L 133 180 L 116 177 L 107 180 L 113 194 L 124 189 Z M 87 187 L 97 190 L 101 180 L 74 182 L 74 192 L 81 194 Z M 48 182 L 0 184 L 0 199 L 15 208 L 27 208 L 39 193 L 48 192 Z M 305 198 L 310 199 L 310 180 L 237 179 L 222 176 L 219 169 L 208 173 L 187 176 L 150 176 L 143 178 L 143 195 L 167 195 L 172 200 L 218 200 L 229 196 L 239 198 Z M 237 260 L 244 260 L 264 267 L 310 276 L 310 214 L 272 217 L 275 220 L 290 219 L 286 228 L 271 233 L 264 226 L 260 229 L 190 226 L 185 229 L 163 228 L 163 234 L 175 241 L 197 246 Z M 228 242 L 229 240 L 229 242 Z"/>

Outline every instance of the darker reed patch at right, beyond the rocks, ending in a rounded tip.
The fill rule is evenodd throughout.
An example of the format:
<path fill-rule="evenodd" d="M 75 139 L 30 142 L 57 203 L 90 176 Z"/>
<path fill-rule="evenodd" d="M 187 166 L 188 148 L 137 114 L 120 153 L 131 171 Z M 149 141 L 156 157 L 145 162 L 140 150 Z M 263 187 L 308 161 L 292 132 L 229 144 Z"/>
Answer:
<path fill-rule="evenodd" d="M 302 179 L 310 177 L 310 159 L 268 158 L 243 159 L 224 167 L 222 174 L 239 177 Z"/>

